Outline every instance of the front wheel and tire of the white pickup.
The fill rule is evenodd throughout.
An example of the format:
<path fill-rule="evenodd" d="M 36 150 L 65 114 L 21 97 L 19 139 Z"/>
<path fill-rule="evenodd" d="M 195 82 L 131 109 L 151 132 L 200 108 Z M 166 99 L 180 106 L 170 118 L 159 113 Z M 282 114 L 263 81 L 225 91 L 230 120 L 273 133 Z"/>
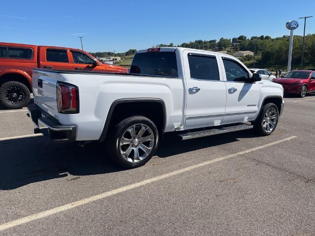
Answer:
<path fill-rule="evenodd" d="M 274 103 L 267 103 L 262 107 L 259 117 L 253 123 L 254 130 L 262 136 L 271 135 L 277 127 L 278 120 L 278 107 Z"/>

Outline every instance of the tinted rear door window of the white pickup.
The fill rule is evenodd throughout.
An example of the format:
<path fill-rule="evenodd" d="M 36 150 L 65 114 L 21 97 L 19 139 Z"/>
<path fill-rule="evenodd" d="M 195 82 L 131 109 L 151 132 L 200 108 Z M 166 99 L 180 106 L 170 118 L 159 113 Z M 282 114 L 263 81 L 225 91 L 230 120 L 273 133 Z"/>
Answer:
<path fill-rule="evenodd" d="M 188 55 L 190 77 L 198 80 L 220 81 L 216 57 Z"/>

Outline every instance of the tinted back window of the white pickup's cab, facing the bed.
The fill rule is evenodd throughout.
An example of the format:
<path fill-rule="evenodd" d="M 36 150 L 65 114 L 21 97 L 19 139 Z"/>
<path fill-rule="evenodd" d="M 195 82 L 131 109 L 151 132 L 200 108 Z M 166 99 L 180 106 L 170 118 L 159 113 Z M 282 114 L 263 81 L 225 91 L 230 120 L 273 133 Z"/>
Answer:
<path fill-rule="evenodd" d="M 131 64 L 131 74 L 178 77 L 175 52 L 137 53 Z"/>

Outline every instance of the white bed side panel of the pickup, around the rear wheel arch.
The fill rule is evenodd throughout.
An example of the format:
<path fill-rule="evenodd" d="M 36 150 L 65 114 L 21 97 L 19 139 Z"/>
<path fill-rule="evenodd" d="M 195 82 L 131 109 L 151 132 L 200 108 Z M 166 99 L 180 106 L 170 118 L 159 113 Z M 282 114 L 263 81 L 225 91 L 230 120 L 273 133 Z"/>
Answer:
<path fill-rule="evenodd" d="M 132 75 L 59 74 L 61 82 L 79 88 L 80 113 L 58 114 L 63 125 L 76 124 L 77 141 L 98 140 L 109 108 L 119 99 L 157 98 L 165 103 L 165 132 L 174 131 L 182 120 L 183 83 L 178 78 Z M 35 100 L 36 101 L 36 100 Z"/>

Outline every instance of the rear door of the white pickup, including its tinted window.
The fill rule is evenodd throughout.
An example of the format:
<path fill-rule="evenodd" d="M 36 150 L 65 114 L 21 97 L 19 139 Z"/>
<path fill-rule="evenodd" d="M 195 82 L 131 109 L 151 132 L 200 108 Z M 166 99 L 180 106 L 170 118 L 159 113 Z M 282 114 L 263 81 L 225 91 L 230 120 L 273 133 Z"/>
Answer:
<path fill-rule="evenodd" d="M 220 125 L 225 114 L 226 87 L 214 53 L 185 50 L 186 127 Z"/>

